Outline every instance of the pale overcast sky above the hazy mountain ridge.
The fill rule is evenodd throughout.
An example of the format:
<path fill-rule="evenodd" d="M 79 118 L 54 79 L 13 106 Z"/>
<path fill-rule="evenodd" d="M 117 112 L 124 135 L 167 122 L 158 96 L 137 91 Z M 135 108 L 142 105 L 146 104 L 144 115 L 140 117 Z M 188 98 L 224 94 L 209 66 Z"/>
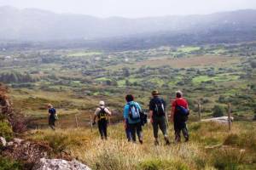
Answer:
<path fill-rule="evenodd" d="M 56 13 L 137 18 L 256 9 L 256 0 L 0 0 L 0 6 L 3 5 L 42 8 Z"/>

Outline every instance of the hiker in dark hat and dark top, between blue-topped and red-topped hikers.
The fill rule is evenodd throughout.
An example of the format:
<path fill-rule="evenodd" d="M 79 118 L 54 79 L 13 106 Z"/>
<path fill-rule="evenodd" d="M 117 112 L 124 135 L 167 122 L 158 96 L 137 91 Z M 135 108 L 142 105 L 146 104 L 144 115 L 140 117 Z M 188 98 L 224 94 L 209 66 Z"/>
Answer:
<path fill-rule="evenodd" d="M 166 126 L 166 102 L 164 99 L 159 97 L 160 93 L 157 90 L 152 92 L 153 98 L 149 102 L 149 116 L 150 122 L 153 125 L 154 132 L 154 144 L 159 144 L 158 139 L 158 129 L 164 134 L 166 144 L 170 144 L 167 136 L 167 126 Z"/>

